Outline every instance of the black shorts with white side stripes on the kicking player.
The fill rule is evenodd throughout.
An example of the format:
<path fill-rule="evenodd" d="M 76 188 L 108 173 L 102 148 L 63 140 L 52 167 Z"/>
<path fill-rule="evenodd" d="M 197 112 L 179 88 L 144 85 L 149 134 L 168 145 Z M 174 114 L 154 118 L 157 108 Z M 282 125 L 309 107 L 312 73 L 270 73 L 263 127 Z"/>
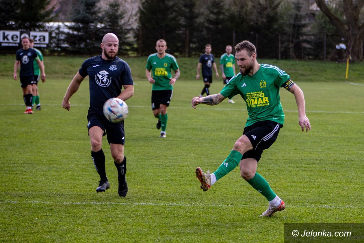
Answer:
<path fill-rule="evenodd" d="M 282 127 L 282 124 L 274 121 L 258 121 L 245 127 L 243 135 L 249 138 L 253 149 L 245 152 L 242 159 L 255 158 L 259 162 L 263 150 L 268 149 L 276 141 Z"/>

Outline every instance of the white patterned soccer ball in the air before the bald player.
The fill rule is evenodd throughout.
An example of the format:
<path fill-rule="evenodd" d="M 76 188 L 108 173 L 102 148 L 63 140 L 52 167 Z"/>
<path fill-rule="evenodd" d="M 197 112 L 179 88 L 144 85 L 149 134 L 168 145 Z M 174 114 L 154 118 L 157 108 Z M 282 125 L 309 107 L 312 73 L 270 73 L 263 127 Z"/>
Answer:
<path fill-rule="evenodd" d="M 104 103 L 103 107 L 106 119 L 111 122 L 119 123 L 128 116 L 128 106 L 119 98 L 110 98 Z"/>

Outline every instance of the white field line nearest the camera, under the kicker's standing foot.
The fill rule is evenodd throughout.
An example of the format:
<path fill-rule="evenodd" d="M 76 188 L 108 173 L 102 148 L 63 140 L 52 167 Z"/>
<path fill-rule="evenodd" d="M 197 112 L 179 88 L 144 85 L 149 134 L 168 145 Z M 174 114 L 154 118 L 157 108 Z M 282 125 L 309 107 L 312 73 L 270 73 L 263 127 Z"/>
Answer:
<path fill-rule="evenodd" d="M 167 207 L 237 207 L 237 208 L 252 208 L 252 207 L 266 207 L 266 205 L 231 205 L 231 204 L 183 204 L 183 203 L 116 203 L 116 202 L 52 202 L 52 201 L 0 201 L 0 204 L 53 204 L 53 205 L 136 205 L 136 206 L 167 206 Z M 364 205 L 354 206 L 354 205 L 287 205 L 290 208 L 333 208 L 333 209 L 343 209 L 343 208 L 364 208 Z"/>

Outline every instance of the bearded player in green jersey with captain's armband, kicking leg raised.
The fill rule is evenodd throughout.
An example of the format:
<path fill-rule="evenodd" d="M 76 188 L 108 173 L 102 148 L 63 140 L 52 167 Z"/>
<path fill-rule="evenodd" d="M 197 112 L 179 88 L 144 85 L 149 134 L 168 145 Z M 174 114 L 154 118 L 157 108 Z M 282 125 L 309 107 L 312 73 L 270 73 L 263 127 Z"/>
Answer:
<path fill-rule="evenodd" d="M 217 105 L 226 97 L 241 95 L 248 109 L 243 135 L 236 140 L 229 156 L 212 174 L 203 172 L 197 167 L 196 177 L 203 191 L 207 191 L 221 177 L 240 165 L 240 174 L 254 189 L 269 201 L 268 209 L 261 217 L 270 217 L 277 211 L 285 209 L 285 203 L 270 188 L 268 182 L 257 173 L 257 165 L 264 149 L 268 149 L 278 136 L 283 126 L 284 113 L 282 110 L 279 89 L 290 91 L 296 98 L 298 107 L 298 124 L 302 132 L 311 129 L 306 117 L 305 99 L 302 90 L 290 80 L 288 74 L 276 66 L 259 64 L 255 46 L 243 41 L 235 47 L 235 58 L 240 67 L 240 74 L 234 76 L 218 94 L 203 98 L 194 97 L 192 107 L 203 103 Z"/>

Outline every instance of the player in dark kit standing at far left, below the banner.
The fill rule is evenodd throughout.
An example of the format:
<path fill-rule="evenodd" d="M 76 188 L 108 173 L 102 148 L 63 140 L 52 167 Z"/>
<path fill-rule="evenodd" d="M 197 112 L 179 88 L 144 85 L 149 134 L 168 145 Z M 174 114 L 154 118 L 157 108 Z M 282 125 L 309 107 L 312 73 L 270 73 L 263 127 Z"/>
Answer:
<path fill-rule="evenodd" d="M 16 52 L 16 60 L 14 63 L 14 80 L 17 79 L 17 70 L 20 64 L 20 86 L 23 90 L 23 98 L 26 109 L 24 114 L 33 114 L 32 111 L 32 88 L 33 88 L 33 78 L 34 78 L 34 68 L 33 68 L 33 60 L 37 62 L 41 72 L 41 80 L 42 82 L 46 82 L 46 74 L 44 73 L 43 65 L 38 58 L 37 52 L 30 48 L 29 46 L 29 38 L 23 37 L 21 38 L 21 45 L 23 48 Z"/>

